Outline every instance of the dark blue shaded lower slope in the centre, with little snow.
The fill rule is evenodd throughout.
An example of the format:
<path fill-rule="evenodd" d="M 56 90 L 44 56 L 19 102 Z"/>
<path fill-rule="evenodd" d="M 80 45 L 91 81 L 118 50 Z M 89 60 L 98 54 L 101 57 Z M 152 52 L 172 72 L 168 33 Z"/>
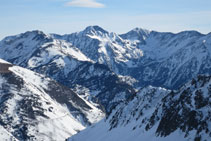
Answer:
<path fill-rule="evenodd" d="M 131 85 L 102 64 L 83 63 L 68 78 L 61 81 L 79 94 L 87 95 L 87 100 L 95 102 L 97 98 L 106 112 L 136 93 Z"/>

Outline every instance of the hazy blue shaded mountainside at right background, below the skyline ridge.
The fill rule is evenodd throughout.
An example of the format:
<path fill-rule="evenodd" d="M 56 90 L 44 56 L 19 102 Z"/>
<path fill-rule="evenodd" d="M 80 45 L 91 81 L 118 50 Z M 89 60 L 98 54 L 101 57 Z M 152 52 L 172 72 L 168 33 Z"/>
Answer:
<path fill-rule="evenodd" d="M 142 86 L 179 88 L 198 74 L 211 74 L 211 34 L 196 31 L 178 34 L 151 32 L 144 44 L 137 44 L 143 57 L 126 72 Z M 140 41 L 141 42 L 141 41 Z"/>

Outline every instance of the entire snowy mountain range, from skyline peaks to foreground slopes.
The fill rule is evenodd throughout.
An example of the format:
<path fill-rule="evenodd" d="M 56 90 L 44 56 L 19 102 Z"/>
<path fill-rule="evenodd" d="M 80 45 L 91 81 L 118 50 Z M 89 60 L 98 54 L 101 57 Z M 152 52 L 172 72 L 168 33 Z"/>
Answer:
<path fill-rule="evenodd" d="M 211 33 L 35 30 L 0 41 L 0 58 L 2 138 L 211 138 Z"/>

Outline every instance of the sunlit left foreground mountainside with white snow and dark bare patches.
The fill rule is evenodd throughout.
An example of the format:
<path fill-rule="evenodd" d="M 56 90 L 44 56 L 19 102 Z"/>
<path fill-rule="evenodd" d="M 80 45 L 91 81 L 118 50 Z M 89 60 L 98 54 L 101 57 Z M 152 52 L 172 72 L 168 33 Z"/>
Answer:
<path fill-rule="evenodd" d="M 65 140 L 103 117 L 100 109 L 44 75 L 18 66 L 0 73 L 1 139 Z"/>

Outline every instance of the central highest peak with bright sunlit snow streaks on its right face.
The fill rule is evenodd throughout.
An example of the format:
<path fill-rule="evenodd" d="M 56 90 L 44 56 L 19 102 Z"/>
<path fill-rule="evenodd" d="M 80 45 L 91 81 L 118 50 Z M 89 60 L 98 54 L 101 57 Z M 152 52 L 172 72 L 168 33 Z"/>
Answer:
<path fill-rule="evenodd" d="M 143 55 L 134 43 L 99 26 L 89 26 L 84 31 L 64 36 L 52 36 L 72 43 L 95 62 L 105 64 L 119 74 L 124 67 L 133 67 Z"/>

